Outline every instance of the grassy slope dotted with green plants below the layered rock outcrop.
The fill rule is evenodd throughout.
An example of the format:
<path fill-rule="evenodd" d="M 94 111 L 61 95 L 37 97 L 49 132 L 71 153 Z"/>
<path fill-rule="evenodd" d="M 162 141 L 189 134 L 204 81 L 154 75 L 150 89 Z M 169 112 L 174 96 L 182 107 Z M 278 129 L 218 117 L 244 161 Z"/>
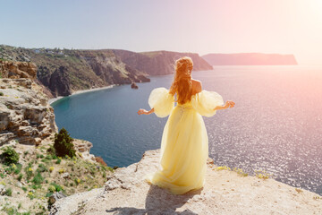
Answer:
<path fill-rule="evenodd" d="M 72 158 L 53 155 L 49 149 L 54 141 L 51 136 L 38 147 L 9 142 L 10 147 L 0 148 L 0 194 L 7 196 L 0 210 L 8 214 L 47 214 L 47 201 L 52 194 L 71 195 L 102 187 L 113 173 L 113 168 L 85 159 L 80 151 L 75 151 Z"/>

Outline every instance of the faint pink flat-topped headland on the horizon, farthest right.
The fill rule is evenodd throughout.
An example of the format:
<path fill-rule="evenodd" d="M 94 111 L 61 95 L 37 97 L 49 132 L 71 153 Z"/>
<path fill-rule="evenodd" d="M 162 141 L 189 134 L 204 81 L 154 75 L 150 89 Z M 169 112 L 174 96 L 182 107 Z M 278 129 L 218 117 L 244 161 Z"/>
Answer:
<path fill-rule="evenodd" d="M 241 53 L 208 54 L 202 56 L 212 65 L 286 65 L 297 64 L 293 55 Z"/>

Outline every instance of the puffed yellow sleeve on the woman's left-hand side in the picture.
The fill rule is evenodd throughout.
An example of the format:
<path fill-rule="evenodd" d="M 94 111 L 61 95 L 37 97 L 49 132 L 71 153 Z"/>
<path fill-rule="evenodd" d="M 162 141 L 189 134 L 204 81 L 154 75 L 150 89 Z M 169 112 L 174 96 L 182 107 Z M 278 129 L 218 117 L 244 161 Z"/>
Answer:
<path fill-rule="evenodd" d="M 154 113 L 158 117 L 168 116 L 174 108 L 174 96 L 165 88 L 156 88 L 148 97 L 148 105 L 154 108 Z"/>

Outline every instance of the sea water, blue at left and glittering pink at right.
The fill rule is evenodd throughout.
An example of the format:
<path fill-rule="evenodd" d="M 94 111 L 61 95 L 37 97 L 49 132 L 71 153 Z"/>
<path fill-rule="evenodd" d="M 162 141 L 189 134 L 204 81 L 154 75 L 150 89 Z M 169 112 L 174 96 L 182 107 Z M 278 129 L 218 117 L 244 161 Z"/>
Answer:
<path fill-rule="evenodd" d="M 250 175 L 265 169 L 278 181 L 322 193 L 322 67 L 216 66 L 192 76 L 236 103 L 204 117 L 216 165 Z M 150 91 L 172 80 L 151 77 L 139 90 L 123 85 L 60 99 L 52 104 L 56 124 L 93 142 L 91 153 L 107 165 L 128 166 L 160 147 L 167 117 L 137 111 L 149 109 Z"/>

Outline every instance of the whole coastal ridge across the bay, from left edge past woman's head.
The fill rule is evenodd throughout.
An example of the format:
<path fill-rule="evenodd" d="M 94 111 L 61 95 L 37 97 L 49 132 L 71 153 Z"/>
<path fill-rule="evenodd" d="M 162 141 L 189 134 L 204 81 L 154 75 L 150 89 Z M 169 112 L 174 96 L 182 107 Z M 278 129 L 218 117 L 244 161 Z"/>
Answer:
<path fill-rule="evenodd" d="M 149 82 L 148 75 L 174 73 L 174 61 L 181 56 L 191 56 L 195 71 L 212 69 L 210 64 L 193 53 L 135 53 L 114 49 L 79 50 L 0 45 L 0 62 L 36 64 L 37 79 L 47 88 L 50 98 L 68 96 L 75 90 L 88 90 L 111 84 Z M 5 68 L 9 76 L 11 69 Z M 20 70 L 18 72 L 21 73 Z"/>

